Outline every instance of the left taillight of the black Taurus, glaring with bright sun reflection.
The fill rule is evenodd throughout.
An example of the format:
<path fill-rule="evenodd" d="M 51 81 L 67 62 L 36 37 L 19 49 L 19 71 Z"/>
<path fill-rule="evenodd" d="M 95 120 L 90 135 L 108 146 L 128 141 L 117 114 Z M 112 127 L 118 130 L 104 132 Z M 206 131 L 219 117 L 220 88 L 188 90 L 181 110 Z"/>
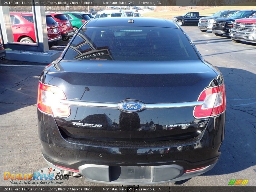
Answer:
<path fill-rule="evenodd" d="M 47 85 L 39 81 L 37 97 L 37 107 L 39 110 L 57 117 L 68 117 L 70 115 L 70 107 L 60 103 L 61 100 L 67 99 L 59 87 Z"/>

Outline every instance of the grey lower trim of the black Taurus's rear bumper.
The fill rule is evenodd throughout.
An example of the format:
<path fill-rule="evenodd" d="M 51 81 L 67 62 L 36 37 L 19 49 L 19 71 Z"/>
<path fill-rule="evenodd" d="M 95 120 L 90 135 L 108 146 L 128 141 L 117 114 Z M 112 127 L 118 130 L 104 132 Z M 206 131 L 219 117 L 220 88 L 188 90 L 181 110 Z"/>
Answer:
<path fill-rule="evenodd" d="M 59 167 L 47 161 L 50 167 Z M 216 163 L 206 166 L 203 169 L 184 173 L 183 167 L 179 165 L 159 165 L 159 166 L 107 166 L 107 165 L 93 165 L 85 164 L 78 167 L 79 174 L 81 174 L 86 181 L 99 182 L 116 185 L 151 185 L 158 183 L 176 182 L 189 179 L 201 175 L 211 170 Z M 130 172 L 130 173 L 129 173 Z M 122 175 L 122 176 L 120 176 Z M 143 176 L 141 176 L 143 175 Z"/>

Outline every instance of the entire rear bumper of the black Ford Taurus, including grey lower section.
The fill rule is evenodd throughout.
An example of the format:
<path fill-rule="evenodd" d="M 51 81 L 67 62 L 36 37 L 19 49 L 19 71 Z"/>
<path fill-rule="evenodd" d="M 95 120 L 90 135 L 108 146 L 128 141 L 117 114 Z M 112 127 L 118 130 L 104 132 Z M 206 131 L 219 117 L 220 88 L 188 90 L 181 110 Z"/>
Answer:
<path fill-rule="evenodd" d="M 42 154 L 49 165 L 79 170 L 87 181 L 110 184 L 165 183 L 205 173 L 212 169 L 219 159 L 220 147 L 224 139 L 224 127 L 225 113 L 210 118 L 206 128 L 197 137 L 190 139 L 154 142 L 85 140 L 81 143 L 74 143 L 61 136 L 54 117 L 38 111 L 38 131 Z M 201 167 L 205 169 L 184 173 L 185 170 Z M 127 175 L 128 169 L 140 171 L 146 169 L 144 179 L 136 174 Z M 110 170 L 112 172 L 114 170 L 114 179 L 107 177 L 99 179 L 100 177 L 96 174 L 100 171 L 100 173 L 110 175 Z M 125 170 L 126 174 L 124 174 Z M 155 175 L 149 176 L 147 170 L 151 171 L 150 175 L 153 173 Z M 161 170 L 164 177 L 157 175 L 157 170 Z M 95 175 L 87 175 L 92 171 Z M 121 178 L 116 176 L 118 174 Z"/>

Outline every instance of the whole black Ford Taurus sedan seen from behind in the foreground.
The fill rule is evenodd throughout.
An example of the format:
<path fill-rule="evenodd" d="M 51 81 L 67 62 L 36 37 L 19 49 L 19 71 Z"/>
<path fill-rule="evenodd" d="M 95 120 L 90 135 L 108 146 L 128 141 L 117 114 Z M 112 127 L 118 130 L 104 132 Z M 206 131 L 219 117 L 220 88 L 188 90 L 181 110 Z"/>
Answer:
<path fill-rule="evenodd" d="M 40 76 L 42 154 L 92 182 L 179 181 L 217 163 L 225 109 L 221 72 L 175 22 L 92 19 Z"/>

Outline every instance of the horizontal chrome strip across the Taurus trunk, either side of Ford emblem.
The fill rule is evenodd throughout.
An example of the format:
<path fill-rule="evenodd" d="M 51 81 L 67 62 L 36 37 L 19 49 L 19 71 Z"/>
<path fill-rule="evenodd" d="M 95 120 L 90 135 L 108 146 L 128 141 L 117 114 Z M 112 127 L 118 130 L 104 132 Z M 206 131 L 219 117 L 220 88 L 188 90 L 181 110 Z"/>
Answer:
<path fill-rule="evenodd" d="M 84 101 L 71 101 L 71 100 L 61 100 L 60 102 L 67 105 L 118 109 L 118 103 L 97 103 L 97 102 L 84 102 Z M 192 101 L 192 102 L 182 102 L 182 103 L 150 103 L 150 104 L 145 104 L 145 109 L 169 109 L 169 108 L 178 108 L 178 107 L 194 107 L 198 105 L 203 105 L 203 103 L 204 101 Z"/>

